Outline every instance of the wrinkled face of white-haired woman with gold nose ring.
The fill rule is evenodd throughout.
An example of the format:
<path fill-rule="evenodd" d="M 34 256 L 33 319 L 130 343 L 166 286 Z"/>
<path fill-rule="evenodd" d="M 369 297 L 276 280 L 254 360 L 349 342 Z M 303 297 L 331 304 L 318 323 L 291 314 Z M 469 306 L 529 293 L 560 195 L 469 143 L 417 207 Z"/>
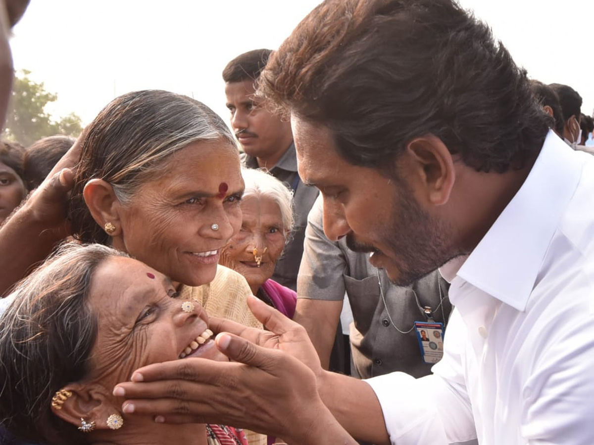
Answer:
<path fill-rule="evenodd" d="M 241 229 L 223 250 L 221 263 L 245 276 L 250 287 L 260 287 L 274 273 L 285 247 L 283 218 L 279 205 L 268 196 L 245 196 L 241 211 Z"/>

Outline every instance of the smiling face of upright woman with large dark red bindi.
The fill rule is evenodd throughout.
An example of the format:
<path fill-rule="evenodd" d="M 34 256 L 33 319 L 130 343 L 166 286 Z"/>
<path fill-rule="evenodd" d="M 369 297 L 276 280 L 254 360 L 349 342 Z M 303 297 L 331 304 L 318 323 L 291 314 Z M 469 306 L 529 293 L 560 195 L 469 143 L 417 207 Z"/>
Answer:
<path fill-rule="evenodd" d="M 208 283 L 221 249 L 241 225 L 238 152 L 223 139 L 200 141 L 162 164 L 131 204 L 122 205 L 122 233 L 113 246 L 173 281 Z"/>

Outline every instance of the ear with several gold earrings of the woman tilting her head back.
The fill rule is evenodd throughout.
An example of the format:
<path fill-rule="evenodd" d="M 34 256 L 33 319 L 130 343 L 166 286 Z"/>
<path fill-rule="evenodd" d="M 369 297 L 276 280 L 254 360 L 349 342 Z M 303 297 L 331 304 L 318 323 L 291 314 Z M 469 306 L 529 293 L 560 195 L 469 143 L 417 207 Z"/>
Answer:
<path fill-rule="evenodd" d="M 108 430 L 108 417 L 120 414 L 120 407 L 113 403 L 113 396 L 99 384 L 71 383 L 62 390 L 71 395 L 62 403 L 52 404 L 52 412 L 76 427 L 82 425 L 83 419 L 87 424 L 94 422 L 96 430 Z"/>

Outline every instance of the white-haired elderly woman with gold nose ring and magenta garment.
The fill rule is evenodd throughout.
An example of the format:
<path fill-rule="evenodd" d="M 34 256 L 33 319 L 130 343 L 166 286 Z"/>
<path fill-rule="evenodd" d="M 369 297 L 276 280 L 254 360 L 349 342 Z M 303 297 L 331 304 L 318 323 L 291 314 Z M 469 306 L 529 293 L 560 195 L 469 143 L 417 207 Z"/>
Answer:
<path fill-rule="evenodd" d="M 293 230 L 293 195 L 264 170 L 242 169 L 241 174 L 241 229 L 223 249 L 220 264 L 242 274 L 254 295 L 292 318 L 297 294 L 271 276 Z"/>

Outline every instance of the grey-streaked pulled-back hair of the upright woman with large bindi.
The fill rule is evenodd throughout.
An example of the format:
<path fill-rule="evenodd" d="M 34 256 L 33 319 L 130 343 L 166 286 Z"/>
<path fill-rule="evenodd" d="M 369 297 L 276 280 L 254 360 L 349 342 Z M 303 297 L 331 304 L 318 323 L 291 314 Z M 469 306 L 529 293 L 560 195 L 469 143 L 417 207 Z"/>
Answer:
<path fill-rule="evenodd" d="M 85 129 L 69 208 L 72 232 L 84 243 L 106 244 L 83 199 L 90 179 L 109 182 L 122 204 L 159 175 L 163 160 L 192 142 L 222 139 L 235 148 L 223 120 L 203 103 L 161 90 L 135 91 L 111 101 Z"/>

